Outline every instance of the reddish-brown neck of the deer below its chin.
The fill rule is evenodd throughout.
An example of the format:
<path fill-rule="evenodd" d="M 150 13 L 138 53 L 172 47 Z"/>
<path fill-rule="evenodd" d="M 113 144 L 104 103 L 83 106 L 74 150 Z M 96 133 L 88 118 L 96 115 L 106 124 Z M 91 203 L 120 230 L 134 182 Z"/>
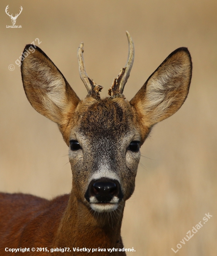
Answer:
<path fill-rule="evenodd" d="M 54 247 L 79 247 L 91 250 L 119 248 L 124 206 L 123 202 L 115 212 L 94 212 L 83 202 L 78 201 L 72 190 L 59 224 Z M 97 252 L 95 255 L 98 255 Z M 102 252 L 99 255 L 102 255 Z M 104 252 L 103 255 L 107 254 Z"/>

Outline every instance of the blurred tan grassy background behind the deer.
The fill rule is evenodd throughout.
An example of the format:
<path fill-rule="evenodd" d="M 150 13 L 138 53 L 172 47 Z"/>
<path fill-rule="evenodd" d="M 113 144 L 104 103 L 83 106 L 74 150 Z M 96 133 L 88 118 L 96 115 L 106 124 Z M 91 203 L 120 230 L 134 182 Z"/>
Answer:
<path fill-rule="evenodd" d="M 13 15 L 23 7 L 16 22 L 22 28 L 6 28 L 12 25 L 8 4 Z M 124 92 L 128 100 L 178 47 L 189 48 L 193 76 L 185 104 L 153 129 L 141 149 L 136 189 L 124 212 L 124 245 L 136 250 L 128 255 L 216 256 L 216 0 L 1 0 L 0 190 L 52 198 L 71 189 L 68 148 L 57 126 L 31 107 L 22 87 L 15 61 L 25 45 L 38 38 L 84 98 L 77 66 L 83 41 L 87 73 L 106 96 L 127 60 L 126 30 L 135 45 Z M 213 217 L 175 254 L 171 248 L 208 212 Z"/>

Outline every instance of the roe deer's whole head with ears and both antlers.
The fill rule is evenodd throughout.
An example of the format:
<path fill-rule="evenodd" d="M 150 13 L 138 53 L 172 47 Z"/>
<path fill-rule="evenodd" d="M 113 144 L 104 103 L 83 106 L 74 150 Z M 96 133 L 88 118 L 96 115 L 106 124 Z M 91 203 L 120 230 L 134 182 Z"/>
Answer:
<path fill-rule="evenodd" d="M 69 146 L 73 194 L 87 209 L 98 212 L 123 209 L 134 191 L 141 145 L 154 124 L 181 107 L 191 82 L 190 53 L 178 48 L 127 101 L 123 89 L 134 61 L 133 40 L 128 32 L 127 36 L 127 64 L 105 99 L 100 98 L 102 87 L 86 74 L 83 43 L 77 52 L 80 76 L 88 90 L 83 101 L 40 48 L 27 54 L 21 66 L 29 102 L 57 123 Z"/>

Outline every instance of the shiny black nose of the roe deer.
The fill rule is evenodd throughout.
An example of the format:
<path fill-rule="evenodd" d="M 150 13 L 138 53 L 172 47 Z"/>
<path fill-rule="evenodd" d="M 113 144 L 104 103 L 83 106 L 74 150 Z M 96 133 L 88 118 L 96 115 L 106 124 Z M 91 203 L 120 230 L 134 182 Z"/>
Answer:
<path fill-rule="evenodd" d="M 90 182 L 85 194 L 88 202 L 90 196 L 95 196 L 97 201 L 101 203 L 110 202 L 114 196 L 117 196 L 119 200 L 123 198 L 120 183 L 108 178 L 101 178 Z"/>

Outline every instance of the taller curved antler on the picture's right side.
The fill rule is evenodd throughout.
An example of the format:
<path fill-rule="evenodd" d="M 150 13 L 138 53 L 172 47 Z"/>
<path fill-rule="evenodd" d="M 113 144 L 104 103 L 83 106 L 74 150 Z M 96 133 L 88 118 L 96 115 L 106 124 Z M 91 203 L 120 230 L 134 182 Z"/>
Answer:
<path fill-rule="evenodd" d="M 121 69 L 121 72 L 117 76 L 117 78 L 115 78 L 111 88 L 109 88 L 109 95 L 113 97 L 114 96 L 124 97 L 123 96 L 124 86 L 128 81 L 131 68 L 133 67 L 133 64 L 134 64 L 134 42 L 128 31 L 126 31 L 126 34 L 128 37 L 128 45 L 129 45 L 128 61 L 126 66 Z"/>

